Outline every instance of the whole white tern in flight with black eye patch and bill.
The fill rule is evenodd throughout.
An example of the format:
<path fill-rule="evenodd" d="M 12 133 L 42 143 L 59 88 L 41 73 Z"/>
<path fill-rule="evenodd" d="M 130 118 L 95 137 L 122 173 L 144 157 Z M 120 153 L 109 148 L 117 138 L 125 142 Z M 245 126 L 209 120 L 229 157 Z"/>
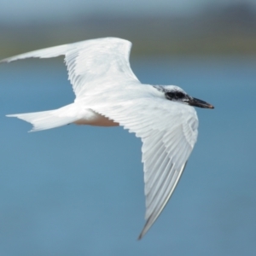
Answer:
<path fill-rule="evenodd" d="M 74 102 L 62 108 L 8 114 L 32 131 L 61 125 L 121 125 L 142 140 L 145 224 L 138 239 L 166 207 L 198 135 L 194 107 L 214 108 L 177 85 L 142 84 L 130 66 L 131 42 L 96 38 L 15 55 L 0 62 L 64 55 Z"/>

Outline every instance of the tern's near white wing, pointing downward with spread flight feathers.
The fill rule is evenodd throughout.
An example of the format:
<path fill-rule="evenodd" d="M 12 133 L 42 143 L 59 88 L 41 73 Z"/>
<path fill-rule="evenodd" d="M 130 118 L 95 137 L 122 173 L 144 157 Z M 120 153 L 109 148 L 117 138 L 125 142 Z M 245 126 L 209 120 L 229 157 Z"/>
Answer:
<path fill-rule="evenodd" d="M 93 109 L 143 141 L 146 224 L 140 239 L 166 207 L 182 175 L 196 142 L 198 119 L 195 108 L 157 97 L 108 105 Z"/>

